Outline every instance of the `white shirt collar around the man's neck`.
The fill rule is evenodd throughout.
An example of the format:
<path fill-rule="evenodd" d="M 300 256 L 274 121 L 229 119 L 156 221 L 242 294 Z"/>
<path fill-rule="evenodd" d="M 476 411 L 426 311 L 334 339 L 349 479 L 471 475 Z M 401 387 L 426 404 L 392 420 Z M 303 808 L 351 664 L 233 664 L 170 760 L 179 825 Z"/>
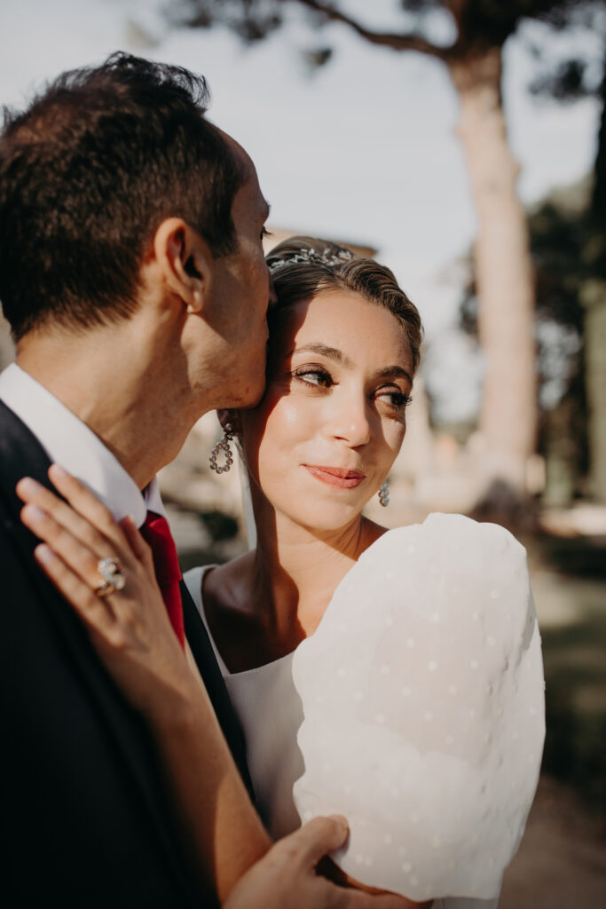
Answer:
<path fill-rule="evenodd" d="M 88 486 L 116 520 L 132 514 L 141 526 L 148 509 L 164 515 L 157 481 L 142 494 L 101 439 L 15 363 L 0 374 L 0 400 L 23 420 L 51 461 Z"/>

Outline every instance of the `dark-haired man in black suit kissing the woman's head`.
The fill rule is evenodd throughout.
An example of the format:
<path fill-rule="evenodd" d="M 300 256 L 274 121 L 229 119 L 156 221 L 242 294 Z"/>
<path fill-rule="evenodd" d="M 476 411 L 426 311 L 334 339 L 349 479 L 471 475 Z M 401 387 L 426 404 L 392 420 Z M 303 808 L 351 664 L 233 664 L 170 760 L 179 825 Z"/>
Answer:
<path fill-rule="evenodd" d="M 188 861 L 147 728 L 35 567 L 15 495 L 25 474 L 47 485 L 55 461 L 115 517 L 147 526 L 163 514 L 154 475 L 194 422 L 262 395 L 268 207 L 253 163 L 204 119 L 205 103 L 204 81 L 186 71 L 113 55 L 61 76 L 7 116 L 0 138 L 0 299 L 17 345 L 0 376 L 8 905 L 215 903 L 214 882 L 201 886 Z M 242 736 L 183 586 L 181 598 L 188 652 L 242 774 L 230 763 L 237 832 L 215 860 L 234 880 L 252 868 L 228 904 L 374 904 L 315 875 L 346 835 L 338 820 L 261 858 L 269 843 L 242 782 Z M 205 734 L 203 781 L 225 748 L 210 702 Z"/>

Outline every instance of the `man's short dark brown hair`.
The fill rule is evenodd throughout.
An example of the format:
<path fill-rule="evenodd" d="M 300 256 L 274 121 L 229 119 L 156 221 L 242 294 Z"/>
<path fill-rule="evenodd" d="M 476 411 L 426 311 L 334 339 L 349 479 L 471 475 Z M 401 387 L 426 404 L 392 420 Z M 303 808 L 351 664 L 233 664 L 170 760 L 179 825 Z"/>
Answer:
<path fill-rule="evenodd" d="M 53 320 L 137 306 L 145 248 L 184 218 L 215 256 L 236 246 L 243 163 L 204 119 L 202 76 L 123 53 L 60 75 L 0 135 L 0 300 L 15 340 Z"/>

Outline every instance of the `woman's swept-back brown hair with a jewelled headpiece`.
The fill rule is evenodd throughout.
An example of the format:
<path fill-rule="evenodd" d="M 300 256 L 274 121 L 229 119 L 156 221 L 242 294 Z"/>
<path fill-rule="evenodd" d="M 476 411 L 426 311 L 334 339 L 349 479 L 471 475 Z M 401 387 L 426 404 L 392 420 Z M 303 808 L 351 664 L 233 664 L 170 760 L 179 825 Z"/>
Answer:
<path fill-rule="evenodd" d="M 412 368 L 419 365 L 422 342 L 421 316 L 385 265 L 374 259 L 357 258 L 345 246 L 309 236 L 293 236 L 273 247 L 267 255 L 277 305 L 309 300 L 325 290 L 349 290 L 369 303 L 383 306 L 402 325 L 412 353 Z M 269 321 L 271 325 L 272 314 Z"/>

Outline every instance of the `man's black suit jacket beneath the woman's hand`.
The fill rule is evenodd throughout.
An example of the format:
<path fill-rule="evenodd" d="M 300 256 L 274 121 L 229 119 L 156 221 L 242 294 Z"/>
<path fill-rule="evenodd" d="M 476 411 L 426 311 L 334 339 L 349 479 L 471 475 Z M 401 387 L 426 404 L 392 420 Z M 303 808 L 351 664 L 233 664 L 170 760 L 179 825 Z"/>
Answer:
<path fill-rule="evenodd" d="M 0 402 L 0 816 L 10 907 L 172 909 L 196 890 L 154 745 L 72 608 L 35 564 L 15 484 L 50 485 L 35 436 Z M 204 624 L 182 584 L 185 631 L 250 789 L 243 737 Z M 6 838 L 7 837 L 7 838 Z"/>

